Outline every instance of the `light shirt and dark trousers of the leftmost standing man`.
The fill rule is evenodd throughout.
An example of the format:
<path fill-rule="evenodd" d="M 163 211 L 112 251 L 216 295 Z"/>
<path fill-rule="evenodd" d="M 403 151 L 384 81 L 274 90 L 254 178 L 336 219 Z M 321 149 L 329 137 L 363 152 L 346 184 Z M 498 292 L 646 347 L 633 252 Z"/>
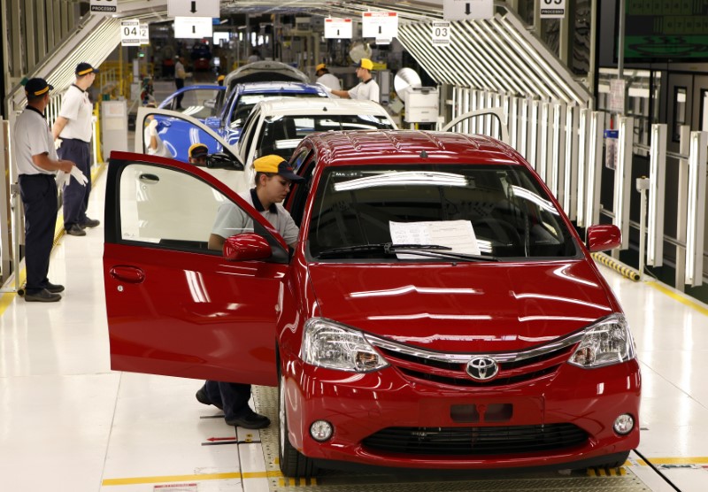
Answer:
<path fill-rule="evenodd" d="M 19 194 L 25 210 L 25 268 L 27 295 L 47 287 L 54 229 L 57 224 L 55 173 L 35 165 L 32 156 L 46 153 L 57 160 L 54 139 L 44 115 L 27 106 L 15 121 L 12 149 L 19 174 Z"/>

